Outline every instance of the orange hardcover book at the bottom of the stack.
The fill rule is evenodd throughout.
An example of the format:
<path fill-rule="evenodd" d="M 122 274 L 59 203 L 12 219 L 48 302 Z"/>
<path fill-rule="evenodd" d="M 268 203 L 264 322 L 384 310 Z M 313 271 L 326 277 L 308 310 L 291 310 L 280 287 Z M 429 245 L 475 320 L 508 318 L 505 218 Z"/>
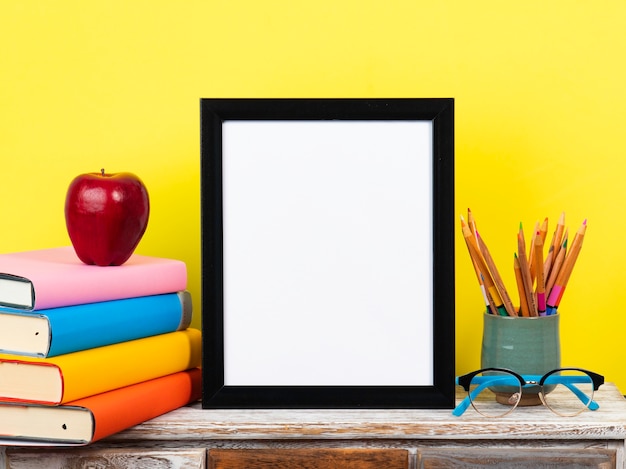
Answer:
<path fill-rule="evenodd" d="M 0 403 L 0 444 L 87 445 L 197 401 L 201 386 L 193 368 L 60 406 Z"/>

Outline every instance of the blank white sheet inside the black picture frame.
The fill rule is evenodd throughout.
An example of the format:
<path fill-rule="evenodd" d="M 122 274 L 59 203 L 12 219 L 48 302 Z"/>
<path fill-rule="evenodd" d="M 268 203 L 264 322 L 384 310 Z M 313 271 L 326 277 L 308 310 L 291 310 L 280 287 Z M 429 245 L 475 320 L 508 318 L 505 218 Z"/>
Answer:
<path fill-rule="evenodd" d="M 432 135 L 224 122 L 226 386 L 433 384 Z"/>

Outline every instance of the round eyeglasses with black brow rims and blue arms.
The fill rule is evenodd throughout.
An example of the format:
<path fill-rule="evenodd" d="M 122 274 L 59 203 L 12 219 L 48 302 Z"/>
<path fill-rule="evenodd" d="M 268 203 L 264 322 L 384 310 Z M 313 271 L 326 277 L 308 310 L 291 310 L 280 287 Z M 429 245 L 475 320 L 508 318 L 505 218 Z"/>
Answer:
<path fill-rule="evenodd" d="M 559 368 L 543 376 L 484 368 L 457 377 L 456 384 L 467 392 L 467 397 L 452 411 L 457 417 L 470 404 L 485 417 L 503 417 L 515 410 L 522 396 L 533 394 L 555 414 L 572 417 L 600 407 L 593 394 L 604 384 L 604 376 L 581 368 Z"/>

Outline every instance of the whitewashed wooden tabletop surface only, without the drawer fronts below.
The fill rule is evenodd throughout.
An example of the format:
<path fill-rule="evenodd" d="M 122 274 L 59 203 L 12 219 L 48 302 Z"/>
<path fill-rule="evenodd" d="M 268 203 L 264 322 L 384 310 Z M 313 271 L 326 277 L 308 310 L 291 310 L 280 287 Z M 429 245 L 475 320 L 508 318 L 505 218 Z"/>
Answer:
<path fill-rule="evenodd" d="M 458 397 L 463 394 L 459 388 Z M 231 439 L 625 439 L 626 400 L 608 383 L 596 393 L 600 409 L 559 417 L 544 406 L 502 418 L 468 409 L 219 409 L 196 403 L 138 425 L 107 441 Z"/>

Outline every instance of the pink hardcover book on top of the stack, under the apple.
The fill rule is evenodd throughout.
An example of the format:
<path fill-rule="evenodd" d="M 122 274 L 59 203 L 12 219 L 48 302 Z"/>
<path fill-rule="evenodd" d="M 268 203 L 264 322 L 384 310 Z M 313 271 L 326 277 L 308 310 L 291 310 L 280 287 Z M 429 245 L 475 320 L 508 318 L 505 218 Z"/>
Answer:
<path fill-rule="evenodd" d="M 41 310 L 185 290 L 184 262 L 133 254 L 121 266 L 83 264 L 71 246 L 0 254 L 0 307 Z"/>

